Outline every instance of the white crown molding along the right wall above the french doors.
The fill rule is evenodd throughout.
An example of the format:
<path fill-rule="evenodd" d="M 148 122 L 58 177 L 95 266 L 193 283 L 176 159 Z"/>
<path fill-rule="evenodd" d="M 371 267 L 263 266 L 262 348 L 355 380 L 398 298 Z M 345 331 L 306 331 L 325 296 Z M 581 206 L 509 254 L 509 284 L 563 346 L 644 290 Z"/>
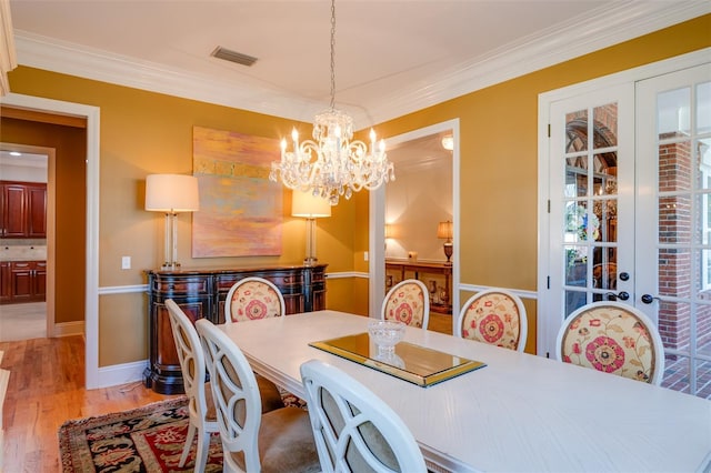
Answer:
<path fill-rule="evenodd" d="M 383 122 L 710 12 L 708 1 L 618 2 L 507 44 L 422 87 L 401 88 L 387 103 L 368 109 Z"/>

